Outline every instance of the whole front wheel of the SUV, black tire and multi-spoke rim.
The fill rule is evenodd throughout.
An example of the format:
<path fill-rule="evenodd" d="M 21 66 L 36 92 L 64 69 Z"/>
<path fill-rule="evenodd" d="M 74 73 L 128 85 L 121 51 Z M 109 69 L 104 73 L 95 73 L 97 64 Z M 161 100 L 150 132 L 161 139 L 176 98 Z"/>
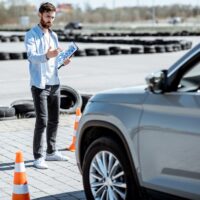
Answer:
<path fill-rule="evenodd" d="M 98 167 L 97 159 L 98 163 L 101 163 L 103 170 L 106 170 L 105 172 L 107 175 L 99 173 L 102 168 Z M 107 161 L 107 164 L 104 161 Z M 116 164 L 115 173 L 110 174 L 111 170 L 108 170 L 106 167 L 109 166 L 108 163 L 111 164 L 110 169 L 114 166 L 114 164 Z M 113 139 L 101 137 L 95 140 L 88 147 L 83 161 L 83 185 L 87 199 L 101 199 L 100 197 L 104 197 L 103 195 L 104 193 L 107 193 L 108 188 L 112 191 L 112 195 L 116 195 L 116 198 L 114 199 L 140 199 L 130 166 L 131 164 L 125 152 L 123 152 L 122 148 L 119 148 L 119 144 Z M 94 176 L 91 176 L 91 173 L 93 173 Z M 112 175 L 113 177 L 119 173 L 122 173 L 122 175 L 115 178 L 114 182 L 112 182 L 113 180 L 110 179 L 109 176 Z M 126 187 L 117 187 L 117 183 L 119 183 L 119 185 L 123 184 Z M 94 197 L 94 193 L 100 187 L 103 187 L 105 192 L 104 190 L 99 191 L 98 196 Z M 120 191 L 123 195 L 120 196 L 115 189 Z"/>

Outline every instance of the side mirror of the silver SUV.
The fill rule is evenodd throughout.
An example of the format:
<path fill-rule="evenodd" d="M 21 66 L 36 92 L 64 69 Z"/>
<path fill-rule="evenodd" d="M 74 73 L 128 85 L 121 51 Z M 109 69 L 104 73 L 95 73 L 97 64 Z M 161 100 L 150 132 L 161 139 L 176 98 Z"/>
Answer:
<path fill-rule="evenodd" d="M 153 93 L 164 93 L 167 89 L 167 70 L 150 74 L 146 77 L 146 83 Z"/>

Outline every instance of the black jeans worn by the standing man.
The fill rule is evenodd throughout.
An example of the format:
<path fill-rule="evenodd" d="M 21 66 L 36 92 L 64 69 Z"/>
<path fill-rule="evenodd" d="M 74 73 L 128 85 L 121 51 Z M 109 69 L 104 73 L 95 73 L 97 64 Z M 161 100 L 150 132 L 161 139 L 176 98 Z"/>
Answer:
<path fill-rule="evenodd" d="M 47 85 L 45 89 L 31 87 L 36 122 L 33 137 L 33 156 L 43 156 L 44 131 L 46 129 L 47 153 L 56 150 L 56 135 L 59 123 L 60 87 Z"/>

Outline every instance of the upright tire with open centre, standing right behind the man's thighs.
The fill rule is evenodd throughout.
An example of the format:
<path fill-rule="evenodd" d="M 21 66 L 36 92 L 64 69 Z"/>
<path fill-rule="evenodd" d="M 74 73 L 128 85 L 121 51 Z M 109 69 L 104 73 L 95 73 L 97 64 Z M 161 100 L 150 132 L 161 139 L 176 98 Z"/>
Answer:
<path fill-rule="evenodd" d="M 72 87 L 61 85 L 60 87 L 60 113 L 74 114 L 77 108 L 81 108 L 81 95 Z"/>

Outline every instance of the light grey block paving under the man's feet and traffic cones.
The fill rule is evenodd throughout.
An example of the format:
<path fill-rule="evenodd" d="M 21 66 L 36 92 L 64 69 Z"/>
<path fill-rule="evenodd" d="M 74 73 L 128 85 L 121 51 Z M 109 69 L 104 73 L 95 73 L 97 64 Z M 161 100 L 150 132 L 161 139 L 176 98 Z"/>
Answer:
<path fill-rule="evenodd" d="M 15 153 L 23 152 L 28 188 L 34 200 L 84 200 L 82 177 L 75 153 L 67 151 L 73 135 L 75 115 L 61 115 L 57 148 L 69 161 L 49 161 L 49 169 L 33 167 L 32 139 L 35 119 L 0 121 L 0 199 L 12 197 Z"/>

